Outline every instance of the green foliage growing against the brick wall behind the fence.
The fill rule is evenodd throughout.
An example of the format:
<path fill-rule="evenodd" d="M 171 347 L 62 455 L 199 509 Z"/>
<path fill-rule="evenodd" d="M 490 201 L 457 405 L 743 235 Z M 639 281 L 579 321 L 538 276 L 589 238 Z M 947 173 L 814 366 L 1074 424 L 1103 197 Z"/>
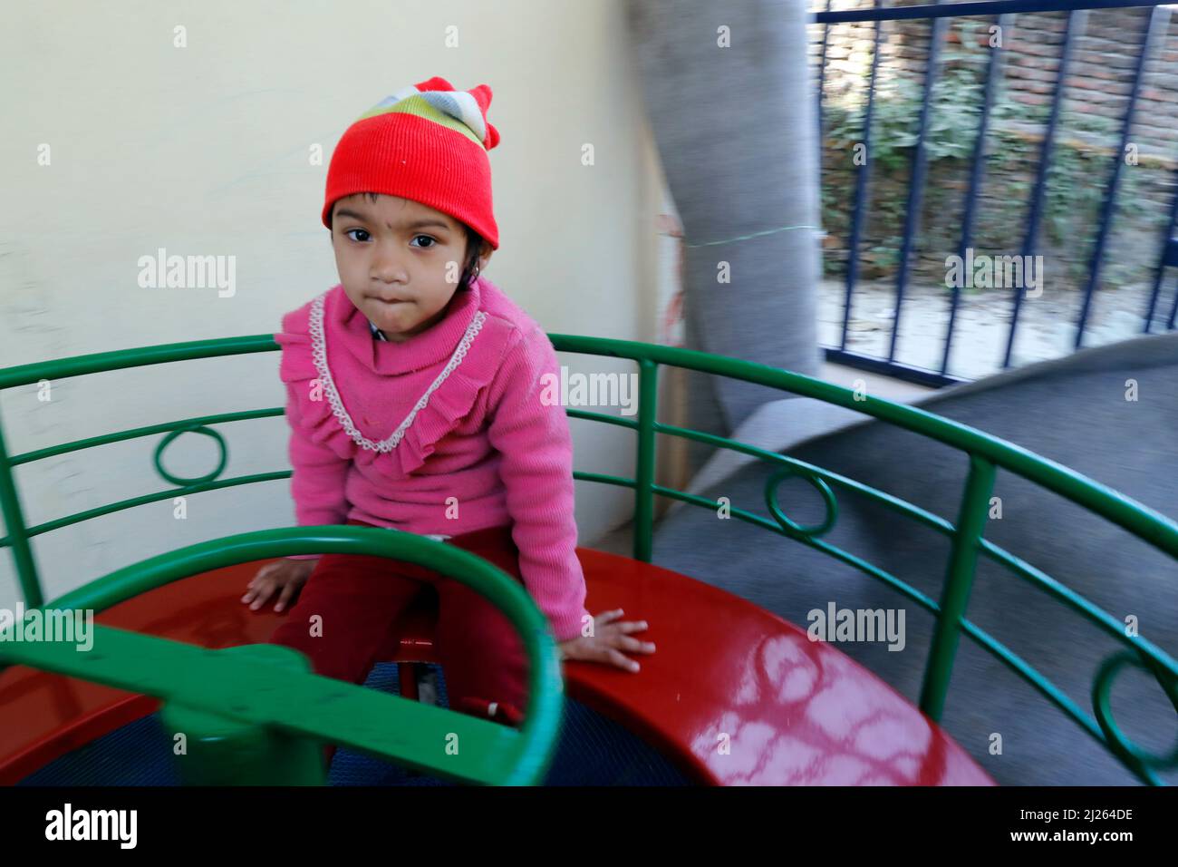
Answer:
<path fill-rule="evenodd" d="M 926 225 L 916 237 L 916 250 L 931 251 L 928 261 L 914 262 L 918 271 L 944 276 L 944 257 L 955 251 L 969 163 L 973 158 L 985 79 L 990 64 L 987 24 L 973 19 L 953 22 L 959 41 L 942 42 L 940 74 L 933 86 L 925 133 L 926 186 L 922 215 Z M 866 210 L 865 249 L 860 251 L 863 276 L 885 276 L 898 264 L 908 179 L 920 131 L 924 83 L 905 74 L 888 74 L 881 63 L 872 109 L 871 199 Z M 1066 106 L 1065 101 L 1065 106 Z M 1020 133 L 1019 126 L 1045 129 L 1050 105 L 1013 101 L 1004 77 L 995 79 L 987 130 L 985 176 L 972 244 L 979 249 L 1017 251 L 1023 243 L 1027 208 L 1041 142 Z M 849 237 L 859 166 L 853 155 L 863 140 L 866 83 L 858 104 L 823 105 L 822 221 L 827 231 Z M 1118 146 L 1120 121 L 1074 110 L 1063 112 L 1055 127 L 1040 223 L 1040 241 L 1059 248 L 1073 282 L 1087 274 L 1091 245 L 1099 225 L 1100 206 L 1112 172 L 1108 146 Z M 834 159 L 830 159 L 830 156 Z M 1123 156 L 1123 155 L 1121 155 Z M 1165 223 L 1162 209 L 1130 206 L 1143 186 L 1160 183 L 1162 172 L 1143 166 L 1121 166 L 1119 203 L 1113 226 L 1130 231 L 1157 231 Z M 935 255 L 932 254 L 935 251 Z M 841 272 L 842 257 L 823 257 L 827 272 Z M 1103 272 L 1105 284 L 1141 280 L 1152 263 L 1112 263 Z"/>

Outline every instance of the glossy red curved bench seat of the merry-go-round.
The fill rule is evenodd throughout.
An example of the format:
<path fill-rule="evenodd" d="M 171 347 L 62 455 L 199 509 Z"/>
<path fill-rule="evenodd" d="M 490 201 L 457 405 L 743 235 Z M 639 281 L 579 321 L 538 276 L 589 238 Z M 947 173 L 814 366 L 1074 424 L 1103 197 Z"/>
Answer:
<path fill-rule="evenodd" d="M 693 779 L 716 784 L 992 786 L 938 725 L 806 631 L 657 566 L 578 549 L 593 612 L 646 619 L 657 651 L 629 674 L 565 663 L 571 697 L 609 716 Z M 263 561 L 193 576 L 97 616 L 206 648 L 265 642 L 272 606 L 240 603 Z M 428 610 L 406 618 L 390 662 L 434 662 Z M 0 672 L 0 784 L 151 714 L 158 702 L 24 666 Z"/>

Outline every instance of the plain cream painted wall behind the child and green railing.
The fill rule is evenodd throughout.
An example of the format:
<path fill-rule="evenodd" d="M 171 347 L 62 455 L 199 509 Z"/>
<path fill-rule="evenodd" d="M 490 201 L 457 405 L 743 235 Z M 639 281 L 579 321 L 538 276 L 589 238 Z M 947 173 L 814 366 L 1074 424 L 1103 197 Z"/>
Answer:
<path fill-rule="evenodd" d="M 501 249 L 488 276 L 549 331 L 655 340 L 663 184 L 621 0 L 15 4 L 0 29 L 0 366 L 271 333 L 337 282 L 318 222 L 345 126 L 431 75 L 489 84 Z M 177 47 L 174 28 L 185 28 Z M 448 27 L 458 45 L 446 46 Z M 582 144 L 595 164 L 581 164 Z M 45 145 L 48 164 L 42 165 Z M 319 145 L 323 164 L 313 164 Z M 140 256 L 233 256 L 236 291 L 144 289 Z M 574 370 L 626 364 L 562 356 Z M 277 353 L 20 388 L 11 452 L 207 413 L 278 406 Z M 39 398 L 48 396 L 48 400 Z M 616 412 L 616 410 L 615 410 Z M 576 466 L 633 472 L 633 439 L 574 421 Z M 221 426 L 225 477 L 286 468 L 282 419 Z M 28 523 L 158 491 L 158 436 L 21 467 Z M 187 435 L 178 473 L 216 461 Z M 577 486 L 583 544 L 630 511 Z M 293 521 L 286 481 L 170 500 L 41 536 L 52 598 L 161 551 Z M 0 605 L 15 602 L 0 558 Z"/>

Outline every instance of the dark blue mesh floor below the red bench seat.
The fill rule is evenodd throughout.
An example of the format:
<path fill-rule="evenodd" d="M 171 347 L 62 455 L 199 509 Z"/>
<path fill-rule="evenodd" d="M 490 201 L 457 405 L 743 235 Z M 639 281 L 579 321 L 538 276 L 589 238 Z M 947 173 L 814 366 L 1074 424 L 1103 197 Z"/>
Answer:
<path fill-rule="evenodd" d="M 437 703 L 449 707 L 438 666 Z M 397 666 L 377 665 L 365 687 L 397 692 Z M 452 786 L 370 756 L 340 749 L 331 763 L 332 786 Z M 67 753 L 19 786 L 177 786 L 171 741 L 158 714 L 137 720 Z M 565 697 L 556 754 L 545 786 L 687 786 L 689 781 L 635 735 Z"/>

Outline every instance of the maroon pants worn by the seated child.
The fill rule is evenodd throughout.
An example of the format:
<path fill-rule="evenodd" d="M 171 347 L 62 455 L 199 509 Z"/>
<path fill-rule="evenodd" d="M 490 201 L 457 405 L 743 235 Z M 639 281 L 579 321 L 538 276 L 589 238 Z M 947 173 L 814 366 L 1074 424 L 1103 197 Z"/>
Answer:
<path fill-rule="evenodd" d="M 510 527 L 463 533 L 445 544 L 490 560 L 522 583 Z M 528 663 L 515 628 L 476 591 L 424 566 L 386 557 L 324 554 L 270 642 L 305 653 L 316 674 L 364 683 L 382 662 L 380 650 L 390 646 L 398 617 L 428 584 L 438 596 L 434 642 L 450 708 L 518 723 L 527 704 Z M 322 625 L 312 630 L 315 615 Z"/>

